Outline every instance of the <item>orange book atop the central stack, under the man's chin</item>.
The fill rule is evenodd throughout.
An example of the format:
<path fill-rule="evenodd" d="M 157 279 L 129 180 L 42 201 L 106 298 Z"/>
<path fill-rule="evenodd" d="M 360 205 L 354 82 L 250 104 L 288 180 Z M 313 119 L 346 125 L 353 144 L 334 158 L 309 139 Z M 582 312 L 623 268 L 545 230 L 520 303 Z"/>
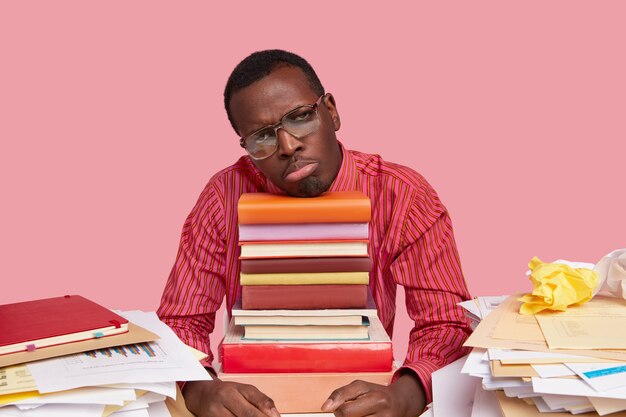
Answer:
<path fill-rule="evenodd" d="M 370 199 L 360 191 L 328 192 L 300 198 L 244 193 L 239 198 L 239 224 L 359 223 L 372 217 Z"/>

